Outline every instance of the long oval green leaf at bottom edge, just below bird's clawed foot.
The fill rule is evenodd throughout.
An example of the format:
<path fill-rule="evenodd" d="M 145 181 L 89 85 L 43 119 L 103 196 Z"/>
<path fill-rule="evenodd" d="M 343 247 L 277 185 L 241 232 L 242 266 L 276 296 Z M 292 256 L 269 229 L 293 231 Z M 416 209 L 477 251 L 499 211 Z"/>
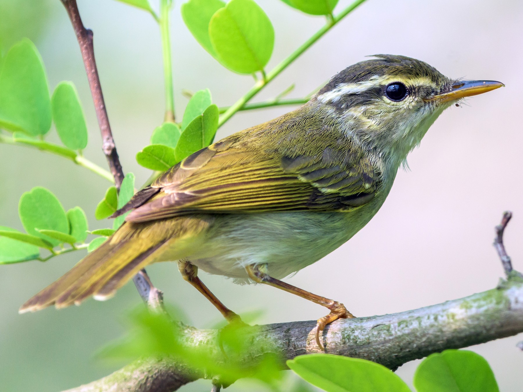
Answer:
<path fill-rule="evenodd" d="M 332 354 L 297 356 L 287 365 L 327 392 L 410 392 L 403 380 L 383 365 Z"/>

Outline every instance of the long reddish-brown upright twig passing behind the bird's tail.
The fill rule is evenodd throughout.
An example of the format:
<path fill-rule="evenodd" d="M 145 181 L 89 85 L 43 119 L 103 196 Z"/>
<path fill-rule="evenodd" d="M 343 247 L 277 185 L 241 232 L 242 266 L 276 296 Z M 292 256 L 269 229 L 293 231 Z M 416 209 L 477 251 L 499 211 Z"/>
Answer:
<path fill-rule="evenodd" d="M 78 11 L 76 0 L 61 0 L 61 2 L 67 11 L 67 15 L 69 15 L 69 18 L 71 19 L 71 24 L 73 25 L 74 33 L 76 34 L 80 51 L 82 52 L 85 72 L 87 73 L 87 80 L 89 82 L 91 95 L 93 96 L 93 103 L 95 105 L 96 117 L 98 119 L 98 125 L 100 126 L 102 150 L 107 158 L 111 174 L 115 178 L 115 186 L 120 190 L 124 177 L 123 169 L 120 164 L 118 152 L 116 151 L 115 141 L 112 137 L 109 117 L 107 116 L 107 110 L 105 107 L 104 94 L 101 90 L 98 68 L 96 67 L 93 46 L 93 30 L 85 28 Z M 162 292 L 156 289 L 156 287 L 151 283 L 145 269 L 142 269 L 134 276 L 133 282 L 143 301 L 145 301 L 149 307 L 152 309 L 163 309 Z"/>

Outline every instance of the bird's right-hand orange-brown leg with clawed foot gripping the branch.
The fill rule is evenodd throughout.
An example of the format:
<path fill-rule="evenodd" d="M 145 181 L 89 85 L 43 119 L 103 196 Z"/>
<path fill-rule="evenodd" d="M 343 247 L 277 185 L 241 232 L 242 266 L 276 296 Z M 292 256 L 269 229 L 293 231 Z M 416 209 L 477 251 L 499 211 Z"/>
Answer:
<path fill-rule="evenodd" d="M 318 347 L 324 350 L 323 345 L 320 341 L 320 332 L 325 329 L 325 326 L 338 318 L 353 318 L 354 316 L 345 308 L 343 304 L 340 304 L 333 299 L 321 297 L 316 294 L 309 293 L 308 291 L 299 289 L 296 286 L 282 282 L 281 280 L 272 278 L 267 273 L 267 264 L 251 264 L 245 267 L 249 278 L 256 283 L 265 283 L 269 286 L 277 287 L 278 289 L 285 290 L 288 293 L 298 295 L 302 298 L 309 299 L 309 301 L 315 304 L 325 306 L 331 313 L 317 320 L 316 323 L 316 343 Z"/>

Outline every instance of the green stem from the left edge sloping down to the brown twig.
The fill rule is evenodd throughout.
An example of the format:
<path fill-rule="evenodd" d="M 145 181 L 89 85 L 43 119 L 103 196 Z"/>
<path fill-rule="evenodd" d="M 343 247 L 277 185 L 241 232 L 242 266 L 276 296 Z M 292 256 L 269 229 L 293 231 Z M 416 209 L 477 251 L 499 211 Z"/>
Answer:
<path fill-rule="evenodd" d="M 89 159 L 79 155 L 76 151 L 69 149 L 67 147 L 61 146 L 59 144 L 49 143 L 46 141 L 32 140 L 32 139 L 13 139 L 0 134 L 0 143 L 11 144 L 16 146 L 25 146 L 37 148 L 40 151 L 45 151 L 47 153 L 58 155 L 63 158 L 72 160 L 75 164 L 83 166 L 86 169 L 96 173 L 98 176 L 105 178 L 111 183 L 115 183 L 115 179 L 112 177 L 112 174 L 104 168 L 101 168 L 94 162 L 91 162 Z"/>

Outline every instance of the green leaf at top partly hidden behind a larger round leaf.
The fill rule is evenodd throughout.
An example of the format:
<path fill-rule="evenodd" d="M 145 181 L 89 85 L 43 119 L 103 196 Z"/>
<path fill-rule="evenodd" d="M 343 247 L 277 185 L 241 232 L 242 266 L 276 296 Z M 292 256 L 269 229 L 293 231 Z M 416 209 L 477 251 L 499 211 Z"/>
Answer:
<path fill-rule="evenodd" d="M 225 7 L 221 0 L 189 0 L 181 5 L 181 17 L 185 25 L 203 49 L 217 57 L 209 37 L 209 22 L 220 8 Z"/>

